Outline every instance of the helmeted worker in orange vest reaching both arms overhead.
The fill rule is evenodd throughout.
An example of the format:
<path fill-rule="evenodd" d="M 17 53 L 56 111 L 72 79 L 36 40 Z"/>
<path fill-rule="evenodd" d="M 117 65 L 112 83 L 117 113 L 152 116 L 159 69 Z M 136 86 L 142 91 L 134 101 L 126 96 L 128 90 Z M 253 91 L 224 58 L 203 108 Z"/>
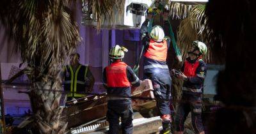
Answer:
<path fill-rule="evenodd" d="M 153 26 L 148 33 L 148 23 L 152 15 L 147 15 L 147 19 L 141 26 L 141 40 L 145 46 L 144 54 L 144 78 L 152 80 L 154 96 L 157 99 L 157 108 L 163 123 L 161 133 L 170 133 L 171 111 L 171 86 L 172 78 L 166 64 L 168 48 L 170 48 L 170 37 L 168 34 L 170 26 L 168 16 L 164 13 L 164 29 L 161 26 Z"/>

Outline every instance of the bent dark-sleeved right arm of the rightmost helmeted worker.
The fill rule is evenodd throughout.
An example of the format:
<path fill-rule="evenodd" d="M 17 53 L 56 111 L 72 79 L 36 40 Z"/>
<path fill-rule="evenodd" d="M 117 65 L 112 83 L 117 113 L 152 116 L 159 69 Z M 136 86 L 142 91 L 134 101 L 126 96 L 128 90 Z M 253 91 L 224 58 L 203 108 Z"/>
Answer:
<path fill-rule="evenodd" d="M 196 68 L 196 76 L 188 77 L 187 80 L 191 82 L 191 84 L 204 84 L 204 78 L 206 76 L 207 66 L 204 61 L 200 61 L 200 65 Z"/>

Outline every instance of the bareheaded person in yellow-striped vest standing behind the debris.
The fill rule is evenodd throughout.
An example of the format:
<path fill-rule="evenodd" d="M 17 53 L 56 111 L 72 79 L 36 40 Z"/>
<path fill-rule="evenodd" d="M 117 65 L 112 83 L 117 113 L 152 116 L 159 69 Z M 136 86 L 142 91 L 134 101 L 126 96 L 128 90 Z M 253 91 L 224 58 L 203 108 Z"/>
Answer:
<path fill-rule="evenodd" d="M 86 96 L 84 92 L 91 92 L 95 82 L 88 66 L 79 63 L 80 55 L 78 53 L 71 54 L 70 59 L 70 65 L 63 68 L 67 101 Z"/>

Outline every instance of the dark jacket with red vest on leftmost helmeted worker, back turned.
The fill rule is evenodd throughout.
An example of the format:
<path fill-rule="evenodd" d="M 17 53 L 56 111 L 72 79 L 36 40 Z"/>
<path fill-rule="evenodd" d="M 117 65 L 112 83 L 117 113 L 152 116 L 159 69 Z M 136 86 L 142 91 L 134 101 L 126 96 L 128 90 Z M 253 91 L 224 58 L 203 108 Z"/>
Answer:
<path fill-rule="evenodd" d="M 115 101 L 115 103 L 131 103 L 129 98 L 116 98 L 115 96 L 131 96 L 131 85 L 140 86 L 140 79 L 132 68 L 122 61 L 104 68 L 102 80 L 109 94 L 108 100 Z"/>

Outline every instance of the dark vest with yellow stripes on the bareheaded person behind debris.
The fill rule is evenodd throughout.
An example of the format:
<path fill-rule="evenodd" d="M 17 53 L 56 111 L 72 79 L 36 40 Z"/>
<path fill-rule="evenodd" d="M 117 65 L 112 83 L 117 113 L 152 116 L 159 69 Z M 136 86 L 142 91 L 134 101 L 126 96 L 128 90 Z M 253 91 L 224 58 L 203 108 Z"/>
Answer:
<path fill-rule="evenodd" d="M 86 87 L 86 75 L 88 71 L 88 66 L 83 66 L 79 64 L 74 72 L 72 66 L 65 66 L 65 84 L 64 90 L 70 91 L 67 94 L 68 97 L 83 97 L 84 94 L 81 92 L 85 91 Z"/>

